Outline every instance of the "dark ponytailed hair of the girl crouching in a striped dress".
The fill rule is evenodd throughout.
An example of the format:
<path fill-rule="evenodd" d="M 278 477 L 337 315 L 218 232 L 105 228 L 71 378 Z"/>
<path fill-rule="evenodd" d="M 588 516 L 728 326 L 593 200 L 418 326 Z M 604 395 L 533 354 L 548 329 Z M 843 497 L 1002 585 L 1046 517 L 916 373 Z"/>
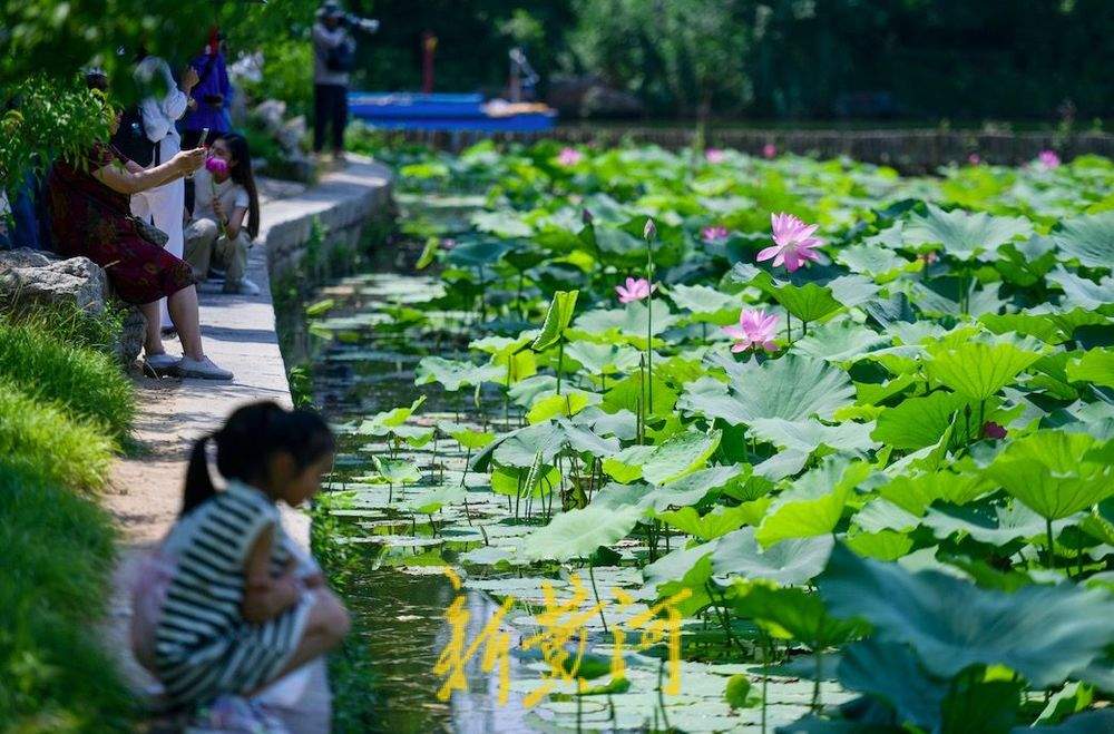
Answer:
<path fill-rule="evenodd" d="M 256 482 L 264 479 L 267 462 L 276 453 L 289 453 L 299 470 L 331 452 L 336 446 L 329 425 L 314 412 L 284 410 L 266 400 L 233 411 L 224 428 L 194 442 L 182 496 L 182 516 L 216 495 L 205 449 L 216 443 L 216 468 L 225 479 Z"/>

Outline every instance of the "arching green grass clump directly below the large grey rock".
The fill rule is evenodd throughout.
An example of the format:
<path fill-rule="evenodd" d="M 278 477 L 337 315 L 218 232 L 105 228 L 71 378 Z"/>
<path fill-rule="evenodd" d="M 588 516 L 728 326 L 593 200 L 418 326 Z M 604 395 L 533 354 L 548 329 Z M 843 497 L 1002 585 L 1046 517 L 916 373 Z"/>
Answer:
<path fill-rule="evenodd" d="M 60 322 L 57 331 L 71 335 L 78 323 Z M 0 320 L 0 379 L 102 423 L 116 438 L 127 435 L 135 417 L 131 382 L 107 354 L 75 346 L 47 329 L 40 320 Z"/>

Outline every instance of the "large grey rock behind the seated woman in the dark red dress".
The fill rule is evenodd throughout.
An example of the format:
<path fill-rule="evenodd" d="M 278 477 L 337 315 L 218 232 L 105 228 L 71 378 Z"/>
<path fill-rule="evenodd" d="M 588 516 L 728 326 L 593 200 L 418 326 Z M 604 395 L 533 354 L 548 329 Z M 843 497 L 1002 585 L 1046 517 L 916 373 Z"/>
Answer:
<path fill-rule="evenodd" d="M 28 249 L 0 253 L 0 300 L 9 306 L 71 303 L 101 313 L 108 294 L 108 276 L 87 257 L 59 261 Z"/>

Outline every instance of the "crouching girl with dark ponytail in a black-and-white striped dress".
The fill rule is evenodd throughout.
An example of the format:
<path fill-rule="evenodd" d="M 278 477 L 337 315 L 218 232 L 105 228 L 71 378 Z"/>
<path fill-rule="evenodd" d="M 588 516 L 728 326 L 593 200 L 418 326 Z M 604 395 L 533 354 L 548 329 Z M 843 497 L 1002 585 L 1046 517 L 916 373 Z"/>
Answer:
<path fill-rule="evenodd" d="M 194 444 L 182 512 L 158 551 L 163 583 L 137 587 L 136 618 L 148 617 L 149 629 L 133 627 L 137 657 L 174 707 L 238 702 L 348 632 L 348 613 L 320 571 L 300 568 L 276 507 L 312 497 L 333 450 L 320 417 L 273 402 L 237 409 Z"/>

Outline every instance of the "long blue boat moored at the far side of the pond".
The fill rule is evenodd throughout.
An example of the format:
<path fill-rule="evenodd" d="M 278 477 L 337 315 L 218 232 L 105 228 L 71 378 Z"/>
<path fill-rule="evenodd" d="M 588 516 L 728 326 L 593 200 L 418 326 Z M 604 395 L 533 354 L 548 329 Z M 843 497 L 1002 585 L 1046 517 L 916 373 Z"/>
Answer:
<path fill-rule="evenodd" d="M 485 102 L 482 95 L 349 92 L 353 117 L 389 130 L 534 133 L 551 129 L 557 112 L 544 105 Z"/>

